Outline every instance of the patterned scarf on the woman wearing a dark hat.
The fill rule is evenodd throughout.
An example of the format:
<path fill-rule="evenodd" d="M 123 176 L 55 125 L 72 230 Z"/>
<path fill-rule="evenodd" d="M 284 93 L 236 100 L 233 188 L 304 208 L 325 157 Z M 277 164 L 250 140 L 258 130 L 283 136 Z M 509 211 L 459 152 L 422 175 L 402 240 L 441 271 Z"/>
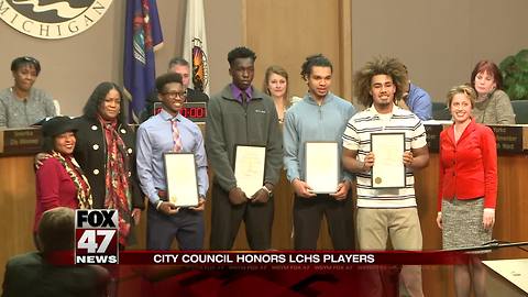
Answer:
<path fill-rule="evenodd" d="M 88 179 L 86 179 L 77 161 L 73 156 L 66 155 L 65 157 L 55 151 L 52 152 L 52 156 L 63 165 L 72 178 L 72 182 L 74 182 L 74 185 L 77 188 L 79 209 L 91 209 L 94 199 L 91 198 L 90 184 L 88 184 Z"/>

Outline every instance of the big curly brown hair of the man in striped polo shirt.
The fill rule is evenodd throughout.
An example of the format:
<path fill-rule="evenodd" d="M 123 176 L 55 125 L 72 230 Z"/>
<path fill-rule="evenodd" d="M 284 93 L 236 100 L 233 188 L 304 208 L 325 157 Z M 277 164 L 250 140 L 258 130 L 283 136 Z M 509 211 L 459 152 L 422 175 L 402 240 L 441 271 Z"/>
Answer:
<path fill-rule="evenodd" d="M 373 98 L 371 95 L 372 78 L 376 75 L 387 75 L 393 79 L 396 86 L 394 100 L 402 98 L 404 85 L 407 84 L 407 72 L 402 62 L 392 57 L 376 57 L 367 62 L 363 68 L 355 74 L 354 92 L 358 101 L 364 107 L 371 107 Z"/>

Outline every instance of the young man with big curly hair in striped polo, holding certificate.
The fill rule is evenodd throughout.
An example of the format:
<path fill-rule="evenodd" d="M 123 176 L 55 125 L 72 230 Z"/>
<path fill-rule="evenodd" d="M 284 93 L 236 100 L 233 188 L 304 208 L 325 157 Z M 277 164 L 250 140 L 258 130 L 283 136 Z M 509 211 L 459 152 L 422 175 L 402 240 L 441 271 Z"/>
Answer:
<path fill-rule="evenodd" d="M 343 165 L 358 177 L 358 240 L 361 250 L 420 251 L 420 221 L 414 175 L 429 162 L 426 130 L 408 110 L 394 105 L 407 84 L 395 58 L 376 58 L 355 77 L 358 100 L 366 107 L 346 124 Z M 404 266 L 411 296 L 424 296 L 419 266 Z"/>

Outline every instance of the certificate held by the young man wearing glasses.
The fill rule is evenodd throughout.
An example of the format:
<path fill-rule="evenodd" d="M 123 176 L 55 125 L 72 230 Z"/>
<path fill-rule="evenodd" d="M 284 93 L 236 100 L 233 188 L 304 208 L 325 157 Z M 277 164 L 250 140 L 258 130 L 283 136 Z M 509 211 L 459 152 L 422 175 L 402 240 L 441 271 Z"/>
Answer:
<path fill-rule="evenodd" d="M 165 153 L 167 198 L 177 207 L 196 207 L 199 201 L 196 162 L 193 153 Z"/>

